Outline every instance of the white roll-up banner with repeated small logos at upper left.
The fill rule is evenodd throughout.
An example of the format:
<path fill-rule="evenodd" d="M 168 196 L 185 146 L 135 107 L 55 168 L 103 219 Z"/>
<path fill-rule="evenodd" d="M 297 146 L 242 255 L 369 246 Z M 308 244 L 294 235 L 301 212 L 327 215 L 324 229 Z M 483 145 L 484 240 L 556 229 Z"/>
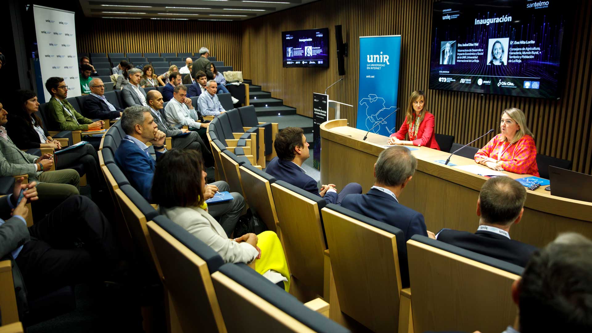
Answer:
<path fill-rule="evenodd" d="M 43 87 L 38 90 L 43 89 L 45 101 L 49 101 L 51 95 L 45 89 L 45 82 L 52 76 L 59 76 L 68 86 L 67 97 L 80 96 L 74 12 L 33 5 L 33 15 L 43 81 Z"/>

